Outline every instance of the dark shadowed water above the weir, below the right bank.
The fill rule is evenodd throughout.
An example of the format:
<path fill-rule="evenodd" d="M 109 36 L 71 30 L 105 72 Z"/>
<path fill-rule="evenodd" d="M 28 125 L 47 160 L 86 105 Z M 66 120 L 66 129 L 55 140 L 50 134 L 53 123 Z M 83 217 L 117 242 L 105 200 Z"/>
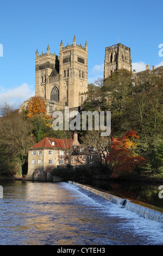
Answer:
<path fill-rule="evenodd" d="M 159 186 L 139 182 L 80 180 L 81 184 L 90 185 L 108 191 L 118 197 L 125 197 L 151 204 L 163 209 L 163 198 L 159 198 Z M 163 185 L 163 184 L 162 184 Z"/>

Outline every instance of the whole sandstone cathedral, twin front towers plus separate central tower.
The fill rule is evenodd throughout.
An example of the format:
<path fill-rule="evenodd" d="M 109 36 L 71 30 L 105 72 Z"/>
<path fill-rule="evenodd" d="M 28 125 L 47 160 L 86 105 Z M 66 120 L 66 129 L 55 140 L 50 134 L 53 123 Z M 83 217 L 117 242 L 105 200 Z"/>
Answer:
<path fill-rule="evenodd" d="M 118 69 L 132 70 L 130 48 L 118 43 L 105 47 L 104 78 Z M 74 36 L 71 45 L 60 42 L 59 56 L 51 53 L 49 45 L 46 53 L 35 52 L 35 96 L 45 99 L 47 114 L 52 115 L 65 106 L 80 110 L 87 93 L 88 51 L 85 45 L 78 45 Z M 20 106 L 27 109 L 30 99 Z"/>

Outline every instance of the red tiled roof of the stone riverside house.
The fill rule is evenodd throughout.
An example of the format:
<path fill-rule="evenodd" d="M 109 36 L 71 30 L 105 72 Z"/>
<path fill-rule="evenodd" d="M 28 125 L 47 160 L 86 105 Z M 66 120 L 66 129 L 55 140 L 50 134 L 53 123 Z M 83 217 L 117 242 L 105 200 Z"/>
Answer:
<path fill-rule="evenodd" d="M 54 142 L 54 145 L 51 143 Z M 71 148 L 73 139 L 57 139 L 57 138 L 44 138 L 42 141 L 35 144 L 33 148 Z"/>

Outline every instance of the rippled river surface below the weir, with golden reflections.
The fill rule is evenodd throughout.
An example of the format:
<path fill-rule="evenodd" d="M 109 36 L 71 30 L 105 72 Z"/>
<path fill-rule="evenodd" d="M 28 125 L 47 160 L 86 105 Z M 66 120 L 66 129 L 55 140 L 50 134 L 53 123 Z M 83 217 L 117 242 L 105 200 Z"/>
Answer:
<path fill-rule="evenodd" d="M 162 245 L 163 224 L 65 182 L 1 181 L 0 245 Z"/>

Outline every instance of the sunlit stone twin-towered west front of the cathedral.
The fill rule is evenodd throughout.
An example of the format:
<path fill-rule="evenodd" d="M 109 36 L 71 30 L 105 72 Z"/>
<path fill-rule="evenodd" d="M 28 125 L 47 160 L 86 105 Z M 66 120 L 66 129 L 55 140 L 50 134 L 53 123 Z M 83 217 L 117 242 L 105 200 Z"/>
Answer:
<path fill-rule="evenodd" d="M 50 52 L 35 56 L 35 96 L 48 100 L 48 112 L 65 106 L 78 108 L 87 92 L 87 42 L 83 47 L 60 43 L 59 56 Z"/>

